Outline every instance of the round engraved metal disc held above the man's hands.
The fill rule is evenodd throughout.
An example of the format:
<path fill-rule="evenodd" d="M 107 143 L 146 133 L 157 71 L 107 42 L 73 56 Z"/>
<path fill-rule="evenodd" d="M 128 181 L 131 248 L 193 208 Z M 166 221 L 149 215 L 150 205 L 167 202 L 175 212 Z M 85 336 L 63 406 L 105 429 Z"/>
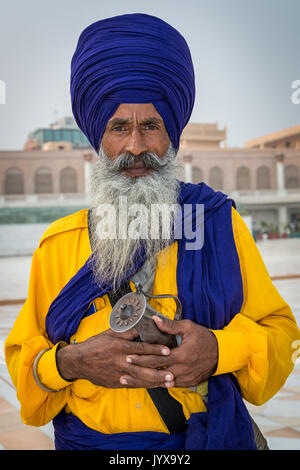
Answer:
<path fill-rule="evenodd" d="M 141 319 L 146 309 L 146 298 L 143 294 L 130 292 L 115 304 L 109 317 L 113 331 L 124 333 L 133 328 Z"/>

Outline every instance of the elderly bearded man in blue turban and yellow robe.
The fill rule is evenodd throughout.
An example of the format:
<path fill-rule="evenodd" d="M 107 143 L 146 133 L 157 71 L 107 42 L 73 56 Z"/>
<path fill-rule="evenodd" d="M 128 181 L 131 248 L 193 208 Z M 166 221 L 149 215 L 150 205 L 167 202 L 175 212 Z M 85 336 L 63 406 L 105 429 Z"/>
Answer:
<path fill-rule="evenodd" d="M 71 96 L 99 155 L 92 208 L 42 236 L 6 341 L 21 417 L 33 426 L 53 420 L 57 449 L 257 449 L 243 399 L 264 403 L 293 369 L 299 330 L 233 201 L 177 179 L 194 95 L 188 46 L 164 21 L 123 15 L 79 37 Z M 184 230 L 176 238 L 174 215 L 169 238 L 161 219 L 158 237 L 145 227 L 130 236 L 124 199 L 147 210 L 189 205 L 204 241 L 189 248 Z M 103 207 L 119 214 L 106 214 L 114 236 L 103 236 Z M 151 325 L 176 344 L 110 327 L 112 308 L 137 295 L 137 282 L 154 309 Z"/>

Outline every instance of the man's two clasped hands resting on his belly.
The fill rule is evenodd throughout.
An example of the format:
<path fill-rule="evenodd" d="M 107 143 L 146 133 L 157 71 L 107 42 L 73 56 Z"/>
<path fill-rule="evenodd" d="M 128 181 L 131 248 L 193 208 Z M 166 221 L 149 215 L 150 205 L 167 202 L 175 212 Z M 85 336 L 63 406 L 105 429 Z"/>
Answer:
<path fill-rule="evenodd" d="M 66 380 L 87 379 L 108 388 L 193 387 L 212 375 L 218 363 L 215 335 L 190 320 L 154 316 L 164 333 L 181 335 L 179 346 L 133 341 L 135 329 L 126 333 L 106 330 L 82 343 L 57 352 L 57 366 Z"/>

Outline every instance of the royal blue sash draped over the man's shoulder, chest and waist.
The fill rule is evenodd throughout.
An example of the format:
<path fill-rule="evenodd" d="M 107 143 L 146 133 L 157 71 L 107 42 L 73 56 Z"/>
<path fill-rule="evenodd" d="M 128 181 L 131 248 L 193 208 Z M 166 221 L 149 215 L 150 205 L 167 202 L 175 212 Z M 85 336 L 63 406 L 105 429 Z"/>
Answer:
<path fill-rule="evenodd" d="M 231 210 L 233 201 L 204 183 L 180 182 L 178 202 L 192 204 L 195 229 L 196 204 L 204 205 L 204 244 L 187 250 L 186 238 L 178 239 L 177 289 L 183 318 L 212 329 L 222 329 L 239 313 L 243 285 L 235 247 Z M 182 220 L 183 223 L 183 220 Z M 145 261 L 143 248 L 135 256 L 135 268 L 120 283 L 130 279 Z M 46 316 L 46 331 L 52 343 L 69 341 L 76 333 L 89 304 L 111 290 L 109 284 L 96 285 L 88 260 L 52 302 Z M 207 411 L 193 413 L 186 433 L 138 432 L 103 434 L 85 426 L 64 410 L 53 420 L 57 449 L 256 449 L 252 423 L 232 374 L 210 377 Z M 175 447 L 174 447 L 175 446 Z"/>

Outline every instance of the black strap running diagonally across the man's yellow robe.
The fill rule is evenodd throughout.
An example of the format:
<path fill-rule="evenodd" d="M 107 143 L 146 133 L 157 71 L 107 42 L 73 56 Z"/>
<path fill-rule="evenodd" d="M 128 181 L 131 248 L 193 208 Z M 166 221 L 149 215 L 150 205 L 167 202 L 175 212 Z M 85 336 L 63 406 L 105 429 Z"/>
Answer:
<path fill-rule="evenodd" d="M 129 282 L 126 282 L 115 292 L 109 292 L 108 297 L 113 307 L 117 301 L 131 291 Z M 173 398 L 166 388 L 156 387 L 147 389 L 154 405 L 170 433 L 183 432 L 187 429 L 186 419 L 182 405 Z"/>

